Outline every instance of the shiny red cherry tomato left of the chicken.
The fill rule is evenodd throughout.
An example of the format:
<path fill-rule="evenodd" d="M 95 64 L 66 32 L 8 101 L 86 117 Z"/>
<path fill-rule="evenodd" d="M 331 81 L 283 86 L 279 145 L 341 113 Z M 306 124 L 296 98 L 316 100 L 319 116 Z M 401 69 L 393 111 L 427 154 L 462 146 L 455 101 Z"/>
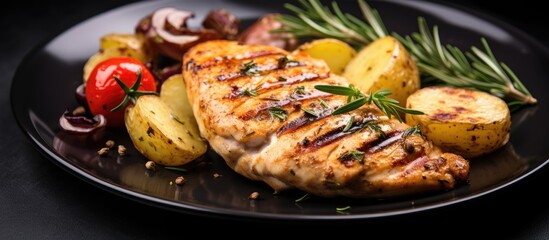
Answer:
<path fill-rule="evenodd" d="M 139 86 L 138 72 L 141 72 Z M 115 77 L 134 91 L 124 91 Z M 102 114 L 107 119 L 107 126 L 121 127 L 124 125 L 124 109 L 129 104 L 125 98 L 135 100 L 140 93 L 156 93 L 154 76 L 139 60 L 129 57 L 109 58 L 93 69 L 86 81 L 86 101 L 93 115 Z M 126 103 L 116 111 L 112 111 L 126 100 Z"/>

